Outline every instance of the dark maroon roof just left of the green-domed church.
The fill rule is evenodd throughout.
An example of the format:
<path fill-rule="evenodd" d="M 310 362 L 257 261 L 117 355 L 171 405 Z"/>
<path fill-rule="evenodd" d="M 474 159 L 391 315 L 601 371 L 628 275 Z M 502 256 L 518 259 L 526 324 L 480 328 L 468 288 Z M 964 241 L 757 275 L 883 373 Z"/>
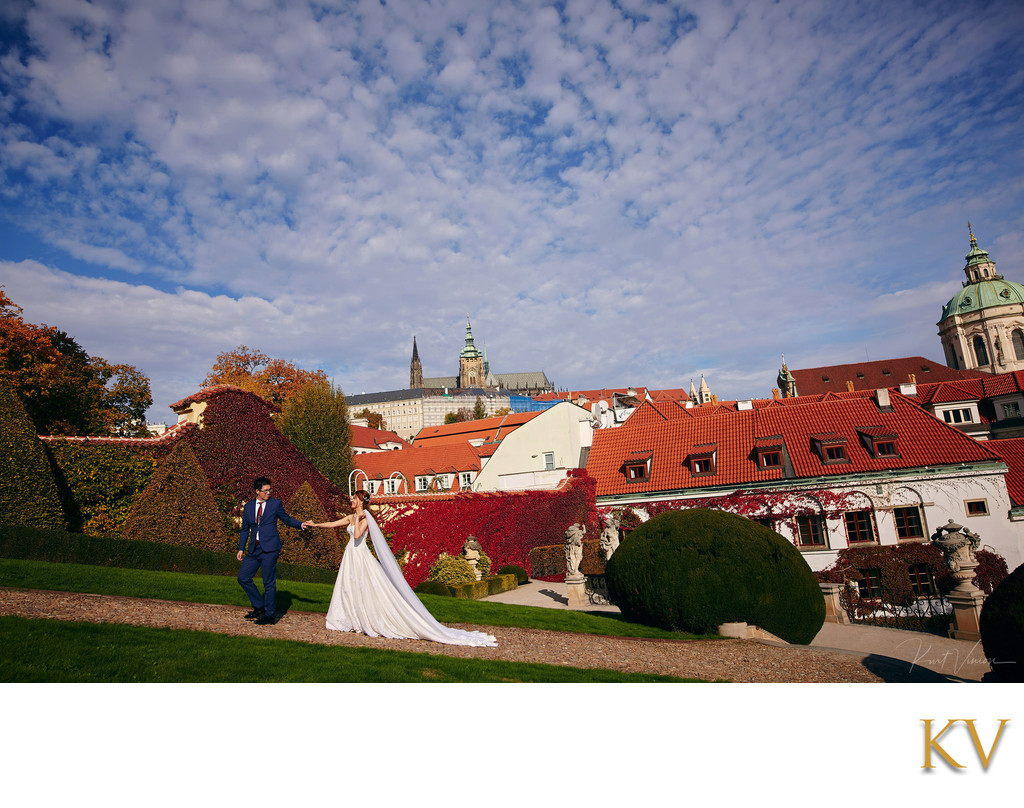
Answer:
<path fill-rule="evenodd" d="M 990 375 L 981 371 L 954 371 L 940 362 L 932 362 L 924 356 L 857 362 L 802 370 L 791 369 L 790 373 L 797 380 L 797 392 L 800 395 L 817 395 L 828 391 L 845 392 L 847 382 L 853 382 L 855 390 L 894 387 L 909 383 L 911 374 L 918 384 L 976 379 Z"/>

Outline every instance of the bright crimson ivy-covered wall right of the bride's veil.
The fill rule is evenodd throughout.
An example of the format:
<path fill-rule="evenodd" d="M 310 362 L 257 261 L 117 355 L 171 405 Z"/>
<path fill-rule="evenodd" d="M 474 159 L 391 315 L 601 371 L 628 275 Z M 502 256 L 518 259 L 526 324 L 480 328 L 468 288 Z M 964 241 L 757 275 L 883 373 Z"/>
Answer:
<path fill-rule="evenodd" d="M 385 534 L 394 535 L 395 555 L 408 553 L 402 571 L 414 587 L 427 579 L 441 553 L 459 555 L 469 536 L 492 558 L 493 568 L 516 564 L 529 571 L 529 551 L 562 541 L 573 522 L 597 535 L 595 490 L 594 478 L 577 469 L 559 491 L 462 494 L 417 503 L 415 510 L 407 505 L 378 521 Z"/>

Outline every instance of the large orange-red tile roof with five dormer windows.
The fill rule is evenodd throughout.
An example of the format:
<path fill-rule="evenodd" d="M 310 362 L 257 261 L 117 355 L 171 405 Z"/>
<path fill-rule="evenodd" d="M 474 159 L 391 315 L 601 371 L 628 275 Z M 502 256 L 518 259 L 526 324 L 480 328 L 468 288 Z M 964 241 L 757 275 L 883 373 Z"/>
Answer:
<path fill-rule="evenodd" d="M 738 412 L 719 408 L 710 417 L 675 420 L 651 415 L 638 418 L 638 411 L 623 426 L 594 433 L 587 471 L 597 479 L 598 496 L 781 480 L 783 469 L 758 467 L 756 446 L 759 438 L 769 436 L 781 436 L 798 479 L 998 460 L 984 443 L 938 421 L 898 393 L 891 396 L 890 412 L 881 410 L 864 392 L 790 400 L 795 403 Z M 864 428 L 895 432 L 899 456 L 873 457 L 858 435 Z M 812 435 L 845 438 L 850 462 L 822 463 L 812 448 Z M 695 477 L 683 461 L 708 443 L 718 444 L 716 474 Z M 653 453 L 650 477 L 631 481 L 621 468 L 639 451 Z"/>

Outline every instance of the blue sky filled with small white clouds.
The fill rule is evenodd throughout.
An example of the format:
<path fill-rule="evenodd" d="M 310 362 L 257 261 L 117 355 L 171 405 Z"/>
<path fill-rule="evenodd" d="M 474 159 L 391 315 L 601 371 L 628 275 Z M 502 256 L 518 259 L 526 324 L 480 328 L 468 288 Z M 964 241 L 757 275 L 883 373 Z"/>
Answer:
<path fill-rule="evenodd" d="M 1019 2 L 0 5 L 0 284 L 153 420 L 239 344 L 347 393 L 767 396 L 1024 283 Z"/>

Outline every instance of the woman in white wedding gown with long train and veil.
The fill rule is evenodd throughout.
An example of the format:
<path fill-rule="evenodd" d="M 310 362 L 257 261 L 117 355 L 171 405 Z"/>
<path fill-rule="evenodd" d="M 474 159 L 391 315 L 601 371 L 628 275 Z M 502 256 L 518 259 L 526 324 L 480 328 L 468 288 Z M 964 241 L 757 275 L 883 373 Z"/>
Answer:
<path fill-rule="evenodd" d="M 359 490 L 350 498 L 354 513 L 334 522 L 303 522 L 303 527 L 348 529 L 348 545 L 341 558 L 338 580 L 327 612 L 327 627 L 355 631 L 371 637 L 418 639 L 449 645 L 496 646 L 498 641 L 481 631 L 461 631 L 442 626 L 406 583 L 398 562 L 373 515 L 366 509 L 370 495 Z M 377 559 L 367 546 L 374 543 Z"/>

